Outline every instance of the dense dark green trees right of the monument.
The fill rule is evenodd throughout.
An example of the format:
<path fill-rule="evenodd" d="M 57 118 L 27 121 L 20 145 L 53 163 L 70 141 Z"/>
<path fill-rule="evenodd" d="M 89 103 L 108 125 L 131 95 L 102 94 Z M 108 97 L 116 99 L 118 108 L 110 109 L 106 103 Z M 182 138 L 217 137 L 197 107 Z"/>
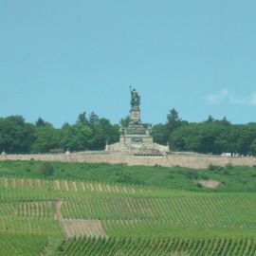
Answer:
<path fill-rule="evenodd" d="M 256 122 L 231 124 L 226 118 L 211 116 L 202 122 L 188 122 L 172 109 L 165 124 L 153 127 L 153 137 L 157 143 L 169 143 L 174 151 L 256 155 Z"/>

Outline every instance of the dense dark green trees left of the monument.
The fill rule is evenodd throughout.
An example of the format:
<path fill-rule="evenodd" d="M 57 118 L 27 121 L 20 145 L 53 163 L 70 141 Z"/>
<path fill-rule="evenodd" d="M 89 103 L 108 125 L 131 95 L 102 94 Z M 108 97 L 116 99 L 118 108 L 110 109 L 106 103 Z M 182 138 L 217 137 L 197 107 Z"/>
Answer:
<path fill-rule="evenodd" d="M 7 153 L 46 153 L 102 150 L 106 142 L 119 140 L 119 125 L 95 113 L 79 115 L 75 124 L 64 123 L 61 129 L 39 118 L 35 124 L 23 117 L 0 119 L 0 151 Z"/>

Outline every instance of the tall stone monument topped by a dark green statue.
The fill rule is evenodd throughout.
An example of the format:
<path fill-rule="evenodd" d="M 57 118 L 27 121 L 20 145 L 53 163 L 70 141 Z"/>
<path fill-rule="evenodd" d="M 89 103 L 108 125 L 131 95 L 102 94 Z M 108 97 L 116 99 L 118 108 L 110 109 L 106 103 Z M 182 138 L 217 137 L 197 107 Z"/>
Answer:
<path fill-rule="evenodd" d="M 136 89 L 132 89 L 129 124 L 120 127 L 118 143 L 107 145 L 106 151 L 132 153 L 134 155 L 163 155 L 169 151 L 168 146 L 154 143 L 151 136 L 151 126 L 147 126 L 140 119 L 140 96 Z"/>

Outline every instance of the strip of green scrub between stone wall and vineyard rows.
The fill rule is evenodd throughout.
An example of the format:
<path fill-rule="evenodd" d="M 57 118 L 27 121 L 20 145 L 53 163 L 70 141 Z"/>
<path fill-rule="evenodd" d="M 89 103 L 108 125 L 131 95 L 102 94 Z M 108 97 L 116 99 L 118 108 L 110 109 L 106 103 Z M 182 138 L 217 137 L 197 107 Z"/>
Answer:
<path fill-rule="evenodd" d="M 210 191 L 195 182 L 214 179 L 222 186 L 216 192 L 256 192 L 256 168 L 211 166 L 206 170 L 182 167 L 146 167 L 90 163 L 52 162 L 55 172 L 50 178 L 122 184 L 137 184 L 187 191 Z M 0 161 L 0 176 L 46 178 L 40 174 L 40 161 Z"/>

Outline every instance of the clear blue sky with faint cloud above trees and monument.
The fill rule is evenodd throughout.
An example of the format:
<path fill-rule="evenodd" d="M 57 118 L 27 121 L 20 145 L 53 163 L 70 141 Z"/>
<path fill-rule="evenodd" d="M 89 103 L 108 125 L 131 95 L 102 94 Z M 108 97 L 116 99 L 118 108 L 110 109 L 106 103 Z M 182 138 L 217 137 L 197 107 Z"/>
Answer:
<path fill-rule="evenodd" d="M 256 2 L 0 0 L 0 117 L 256 121 Z"/>

